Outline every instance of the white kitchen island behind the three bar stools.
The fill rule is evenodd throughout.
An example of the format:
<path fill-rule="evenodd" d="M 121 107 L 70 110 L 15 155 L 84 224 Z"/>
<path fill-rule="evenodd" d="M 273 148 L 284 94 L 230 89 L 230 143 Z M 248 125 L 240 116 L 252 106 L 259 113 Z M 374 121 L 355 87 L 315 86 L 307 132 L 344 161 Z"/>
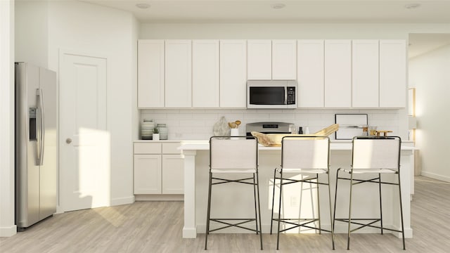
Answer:
<path fill-rule="evenodd" d="M 205 233 L 206 211 L 207 211 L 207 188 L 209 179 L 209 143 L 208 141 L 184 141 L 179 147 L 184 155 L 184 228 L 183 238 L 196 238 L 197 233 Z M 404 210 L 405 238 L 412 238 L 411 228 L 411 194 L 413 193 L 413 162 L 415 150 L 411 143 L 404 142 L 401 145 L 401 194 Z M 335 196 L 335 176 L 340 167 L 349 167 L 351 162 L 351 141 L 332 141 L 330 145 L 330 188 L 332 205 Z M 259 145 L 259 190 L 261 196 L 262 232 L 270 233 L 271 203 L 274 187 L 274 168 L 281 164 L 280 147 L 264 147 Z M 387 180 L 394 180 L 393 175 L 386 176 Z M 323 181 L 325 178 L 319 177 Z M 278 186 L 275 183 L 276 199 L 278 199 Z M 367 184 L 368 186 L 355 186 L 354 208 L 352 216 L 376 217 L 379 216 L 378 207 L 378 184 Z M 212 215 L 214 216 L 255 216 L 252 190 L 246 186 L 214 186 L 212 195 Z M 243 188 L 244 187 L 244 188 Z M 248 186 L 247 186 L 248 187 Z M 293 184 L 283 187 L 283 214 L 302 214 L 302 216 L 317 215 L 311 213 L 311 206 L 316 210 L 317 197 L 315 186 L 310 187 L 308 183 L 304 186 Z M 302 188 L 302 190 L 300 190 Z M 338 189 L 338 207 L 336 216 L 338 218 L 348 217 L 349 207 L 349 184 L 340 183 Z M 248 193 L 248 194 L 247 194 Z M 394 186 L 383 186 L 383 225 L 399 229 L 401 226 L 398 188 Z M 321 226 L 330 229 L 330 210 L 328 208 L 328 190 L 319 188 L 319 200 L 321 205 Z M 301 205 L 300 205 L 301 202 Z M 240 207 L 236 209 L 234 207 Z M 278 205 L 274 207 L 278 210 Z M 243 211 L 244 210 L 244 211 Z M 230 213 L 232 213 L 230 215 Z M 277 212 L 274 214 L 278 216 Z M 275 224 L 275 223 L 274 223 Z M 300 231 L 292 230 L 291 233 Z M 314 233 L 301 231 L 302 233 Z M 379 233 L 375 228 L 364 228 L 359 233 Z M 236 228 L 229 228 L 222 233 L 248 233 Z M 335 233 L 347 233 L 347 223 L 337 222 Z M 387 232 L 390 233 L 390 232 Z M 392 232 L 397 237 L 401 233 Z"/>

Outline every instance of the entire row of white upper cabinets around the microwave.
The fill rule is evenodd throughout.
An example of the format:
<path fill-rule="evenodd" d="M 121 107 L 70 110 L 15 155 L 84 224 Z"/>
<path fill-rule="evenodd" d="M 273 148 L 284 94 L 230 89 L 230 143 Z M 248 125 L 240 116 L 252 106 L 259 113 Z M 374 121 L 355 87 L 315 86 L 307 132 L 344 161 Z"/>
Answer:
<path fill-rule="evenodd" d="M 406 41 L 138 41 L 138 108 L 246 108 L 247 80 L 298 82 L 298 108 L 405 108 Z"/>

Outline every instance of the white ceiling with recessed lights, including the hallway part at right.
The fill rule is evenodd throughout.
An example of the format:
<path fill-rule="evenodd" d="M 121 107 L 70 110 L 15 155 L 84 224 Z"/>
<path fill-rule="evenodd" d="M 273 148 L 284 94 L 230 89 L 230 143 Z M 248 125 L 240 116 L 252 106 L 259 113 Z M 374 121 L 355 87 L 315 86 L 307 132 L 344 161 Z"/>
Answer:
<path fill-rule="evenodd" d="M 134 13 L 139 22 L 450 23 L 450 0 L 79 0 Z M 138 8 L 136 4 L 147 4 Z M 283 8 L 274 5 L 283 4 Z M 417 8 L 406 8 L 418 4 Z M 450 34 L 411 34 L 409 57 L 450 44 Z"/>

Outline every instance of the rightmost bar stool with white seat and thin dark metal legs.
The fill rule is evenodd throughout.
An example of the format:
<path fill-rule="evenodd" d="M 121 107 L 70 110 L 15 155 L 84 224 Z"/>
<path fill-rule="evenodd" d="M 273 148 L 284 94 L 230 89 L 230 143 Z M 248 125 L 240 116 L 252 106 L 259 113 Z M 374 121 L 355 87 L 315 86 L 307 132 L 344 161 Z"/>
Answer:
<path fill-rule="evenodd" d="M 338 196 L 338 181 L 347 180 L 350 181 L 350 196 L 349 196 L 349 216 L 348 219 L 338 219 L 335 217 L 333 221 L 333 227 L 335 221 L 344 221 L 348 223 L 347 231 L 347 249 L 350 249 L 350 233 L 359 230 L 364 227 L 380 228 L 381 234 L 383 230 L 394 231 L 401 233 L 403 239 L 403 249 L 405 249 L 405 236 L 404 236 L 404 224 L 403 224 L 403 208 L 401 206 L 401 186 L 400 186 L 400 148 L 401 138 L 398 136 L 356 136 L 352 141 L 352 165 L 350 169 L 338 169 L 336 174 L 336 193 L 335 193 L 335 208 L 334 214 L 336 215 L 336 199 Z M 341 173 L 340 173 L 341 172 Z M 340 174 L 349 174 L 349 178 L 342 177 Z M 356 175 L 372 174 L 376 175 L 373 179 L 361 178 L 355 179 Z M 397 182 L 392 183 L 390 181 L 382 181 L 381 174 L 397 174 Z M 380 217 L 379 218 L 352 218 L 352 191 L 353 186 L 361 183 L 377 183 L 378 194 L 380 201 Z M 399 187 L 399 200 L 400 200 L 400 217 L 401 217 L 401 230 L 385 228 L 383 226 L 383 208 L 381 199 L 381 186 L 382 185 L 394 185 Z M 374 225 L 377 222 L 380 225 Z M 351 229 L 351 224 L 358 225 L 356 228 Z"/>

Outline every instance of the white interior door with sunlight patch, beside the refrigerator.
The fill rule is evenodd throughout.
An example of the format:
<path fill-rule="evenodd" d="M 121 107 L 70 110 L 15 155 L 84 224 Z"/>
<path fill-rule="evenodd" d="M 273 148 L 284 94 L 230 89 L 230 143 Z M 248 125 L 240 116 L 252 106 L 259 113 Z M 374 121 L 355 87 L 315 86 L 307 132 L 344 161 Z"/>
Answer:
<path fill-rule="evenodd" d="M 106 58 L 60 53 L 60 209 L 110 204 Z"/>

